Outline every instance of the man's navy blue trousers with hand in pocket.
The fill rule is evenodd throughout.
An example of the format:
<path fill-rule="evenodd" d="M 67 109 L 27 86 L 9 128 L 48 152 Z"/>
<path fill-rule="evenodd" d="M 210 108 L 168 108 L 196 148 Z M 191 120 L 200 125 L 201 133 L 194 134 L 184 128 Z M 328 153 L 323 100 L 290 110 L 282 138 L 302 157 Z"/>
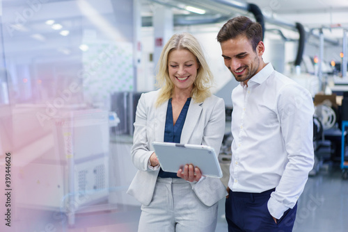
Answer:
<path fill-rule="evenodd" d="M 291 232 L 297 203 L 276 223 L 267 208 L 271 192 L 274 189 L 261 193 L 230 191 L 225 205 L 228 232 Z"/>

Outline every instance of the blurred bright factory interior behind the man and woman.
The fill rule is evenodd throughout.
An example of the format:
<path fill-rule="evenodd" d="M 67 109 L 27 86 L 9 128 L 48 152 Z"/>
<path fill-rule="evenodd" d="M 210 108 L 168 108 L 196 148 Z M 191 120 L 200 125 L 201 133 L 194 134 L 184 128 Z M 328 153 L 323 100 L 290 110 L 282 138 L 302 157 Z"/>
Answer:
<path fill-rule="evenodd" d="M 198 39 L 212 93 L 225 101 L 218 158 L 227 186 L 239 83 L 216 35 L 239 15 L 262 24 L 263 60 L 313 97 L 315 165 L 293 231 L 348 231 L 342 0 L 0 0 L 0 231 L 137 231 L 141 204 L 126 193 L 137 171 L 136 106 L 156 90 L 159 55 L 175 33 Z M 216 232 L 227 231 L 221 199 Z"/>

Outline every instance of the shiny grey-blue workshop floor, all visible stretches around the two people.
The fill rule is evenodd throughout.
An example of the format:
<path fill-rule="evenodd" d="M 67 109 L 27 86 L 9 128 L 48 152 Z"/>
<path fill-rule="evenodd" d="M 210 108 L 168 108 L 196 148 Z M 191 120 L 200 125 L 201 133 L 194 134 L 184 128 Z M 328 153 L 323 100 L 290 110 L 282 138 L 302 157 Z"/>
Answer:
<path fill-rule="evenodd" d="M 333 165 L 308 179 L 299 199 L 294 232 L 348 231 L 348 180 L 341 174 L 339 165 Z M 74 226 L 68 226 L 57 212 L 20 209 L 11 228 L 1 227 L 0 231 L 135 232 L 139 216 L 138 206 L 119 206 L 117 210 L 77 214 Z M 227 231 L 224 200 L 219 202 L 216 231 Z"/>

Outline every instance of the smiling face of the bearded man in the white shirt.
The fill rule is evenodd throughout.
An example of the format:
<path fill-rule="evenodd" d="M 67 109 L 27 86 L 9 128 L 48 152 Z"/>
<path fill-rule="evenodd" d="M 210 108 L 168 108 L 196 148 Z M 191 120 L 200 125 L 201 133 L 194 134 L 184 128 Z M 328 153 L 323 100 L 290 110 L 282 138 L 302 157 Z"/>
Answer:
<path fill-rule="evenodd" d="M 221 42 L 221 50 L 225 65 L 235 76 L 236 81 L 247 83 L 262 69 L 263 42 L 259 42 L 254 51 L 246 36 L 239 35 L 235 39 Z"/>

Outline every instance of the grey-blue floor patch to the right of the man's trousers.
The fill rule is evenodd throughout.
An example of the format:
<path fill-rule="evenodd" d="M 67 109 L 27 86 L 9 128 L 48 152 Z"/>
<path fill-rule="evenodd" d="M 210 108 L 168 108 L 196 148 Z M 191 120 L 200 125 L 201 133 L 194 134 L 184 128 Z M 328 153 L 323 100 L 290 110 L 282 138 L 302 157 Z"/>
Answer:
<path fill-rule="evenodd" d="M 348 180 L 339 165 L 308 179 L 294 225 L 294 232 L 302 231 L 348 231 Z"/>

